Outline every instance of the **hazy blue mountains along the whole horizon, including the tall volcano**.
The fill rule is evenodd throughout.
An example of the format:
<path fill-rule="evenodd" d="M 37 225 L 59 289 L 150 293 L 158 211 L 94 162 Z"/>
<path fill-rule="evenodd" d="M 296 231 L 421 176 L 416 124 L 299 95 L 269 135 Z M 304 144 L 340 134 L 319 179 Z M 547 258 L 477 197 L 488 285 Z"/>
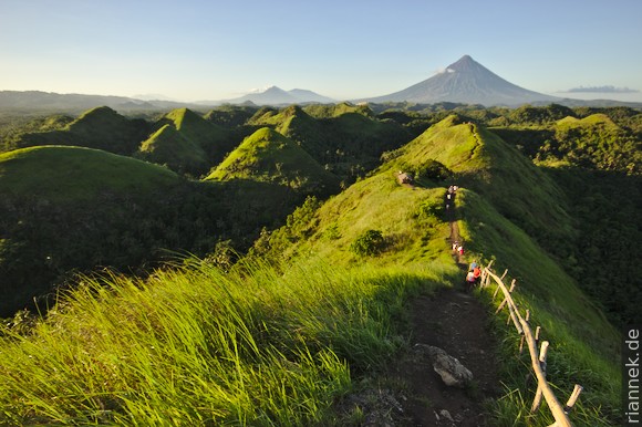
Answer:
<path fill-rule="evenodd" d="M 141 95 L 145 100 L 126 96 L 104 96 L 83 94 L 59 94 L 40 91 L 0 91 L 0 111 L 56 111 L 80 113 L 96 106 L 108 106 L 121 113 L 136 111 L 169 111 L 175 108 L 203 110 L 224 104 L 248 106 L 287 106 L 306 104 L 335 104 L 338 101 L 315 92 L 293 88 L 284 91 L 277 86 L 262 92 L 253 92 L 229 100 L 179 102 L 163 98 L 151 100 L 154 95 Z M 557 97 L 529 91 L 512 84 L 469 55 L 462 56 L 443 72 L 433 75 L 402 91 L 383 96 L 351 100 L 353 103 L 371 104 L 412 103 L 412 104 L 473 104 L 483 106 L 517 107 L 525 104 L 548 105 L 551 103 L 576 106 L 629 106 L 639 108 L 642 103 L 614 100 L 574 100 Z"/>

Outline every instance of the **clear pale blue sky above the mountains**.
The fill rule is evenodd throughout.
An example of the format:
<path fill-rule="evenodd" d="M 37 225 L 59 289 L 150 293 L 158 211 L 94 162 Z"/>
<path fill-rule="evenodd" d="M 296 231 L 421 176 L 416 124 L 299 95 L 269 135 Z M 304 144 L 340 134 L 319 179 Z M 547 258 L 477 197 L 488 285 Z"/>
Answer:
<path fill-rule="evenodd" d="M 642 102 L 642 1 L 0 0 L 0 91 L 343 101 L 465 54 L 531 91 Z"/>

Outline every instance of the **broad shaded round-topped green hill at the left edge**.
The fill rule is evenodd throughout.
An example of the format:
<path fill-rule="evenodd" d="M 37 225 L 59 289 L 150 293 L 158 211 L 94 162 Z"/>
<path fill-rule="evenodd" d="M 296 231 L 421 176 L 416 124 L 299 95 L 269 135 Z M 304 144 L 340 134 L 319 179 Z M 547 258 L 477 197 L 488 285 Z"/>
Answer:
<path fill-rule="evenodd" d="M 0 312 L 32 304 L 72 269 L 139 263 L 155 240 L 141 232 L 159 226 L 145 222 L 154 198 L 180 186 L 166 168 L 96 149 L 0 155 Z"/>

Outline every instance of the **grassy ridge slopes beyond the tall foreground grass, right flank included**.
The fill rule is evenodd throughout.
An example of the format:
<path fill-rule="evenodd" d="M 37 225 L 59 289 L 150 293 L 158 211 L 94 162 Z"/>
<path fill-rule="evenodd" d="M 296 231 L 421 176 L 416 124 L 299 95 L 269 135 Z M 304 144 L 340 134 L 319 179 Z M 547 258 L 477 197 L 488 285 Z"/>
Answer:
<path fill-rule="evenodd" d="M 443 200 L 444 188 L 431 189 L 431 183 L 426 183 L 426 188 L 412 190 L 397 186 L 393 177 L 398 165 L 437 158 L 465 183 L 458 196 L 457 217 L 468 258 L 487 262 L 493 257 L 497 269 L 509 269 L 519 283 L 520 304 L 531 309 L 534 322 L 542 326 L 542 336 L 551 341 L 550 378 L 563 393 L 572 389 L 573 382 L 586 385 L 582 402 L 588 413 L 603 410 L 601 416 L 617 413 L 618 332 L 555 259 L 520 227 L 568 232 L 569 218 L 560 210 L 565 205 L 561 191 L 495 135 L 468 124 L 456 125 L 453 118 L 426 131 L 401 152 L 379 174 L 325 202 L 313 216 L 315 226 L 307 232 L 312 236 L 310 239 L 286 250 L 275 244 L 277 252 L 286 257 L 319 253 L 334 262 L 363 262 L 348 248 L 363 230 L 372 228 L 383 232 L 389 247 L 382 254 L 367 259 L 367 263 L 413 263 L 435 258 L 454 267 L 449 257 L 445 257 L 448 231 L 444 222 L 421 214 L 436 210 L 434 204 Z M 507 195 L 516 197 L 497 202 Z M 516 212 L 529 210 L 531 216 L 509 220 Z M 551 218 L 559 222 L 552 222 Z M 292 236 L 288 238 L 292 240 Z M 277 243 L 279 235 L 273 239 Z M 453 280 L 457 283 L 459 279 Z M 557 368 L 553 363 L 558 363 Z M 519 375 L 522 374 L 521 371 Z M 514 381 L 509 386 L 518 387 L 519 381 Z M 511 416 L 520 417 L 519 409 L 514 410 Z M 601 421 L 589 416 L 584 423 Z"/>

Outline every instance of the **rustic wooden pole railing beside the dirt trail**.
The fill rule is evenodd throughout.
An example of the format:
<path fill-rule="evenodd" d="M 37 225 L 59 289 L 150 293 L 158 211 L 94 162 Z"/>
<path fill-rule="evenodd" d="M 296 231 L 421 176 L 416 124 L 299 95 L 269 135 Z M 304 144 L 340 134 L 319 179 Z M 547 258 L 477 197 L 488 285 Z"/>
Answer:
<path fill-rule="evenodd" d="M 517 332 L 521 335 L 521 343 L 519 345 L 519 352 L 521 353 L 525 342 L 528 345 L 528 351 L 530 353 L 530 361 L 531 361 L 531 365 L 532 365 L 532 371 L 535 373 L 535 376 L 537 377 L 537 393 L 535 395 L 530 412 L 535 413 L 539 409 L 539 406 L 541 404 L 541 398 L 543 396 L 543 398 L 546 399 L 546 403 L 547 403 L 548 407 L 550 408 L 550 412 L 556 420 L 555 424 L 552 424 L 549 427 L 552 427 L 552 426 L 556 426 L 556 427 L 572 426 L 572 424 L 568 417 L 568 413 L 571 410 L 571 408 L 576 404 L 578 397 L 580 396 L 580 393 L 582 392 L 582 386 L 576 384 L 576 387 L 574 387 L 573 392 L 571 393 L 571 396 L 569 397 L 567 404 L 565 406 L 562 406 L 559 403 L 559 400 L 557 399 L 555 393 L 552 392 L 552 389 L 550 388 L 550 385 L 548 384 L 548 382 L 546 379 L 546 356 L 547 356 L 549 343 L 548 343 L 548 341 L 542 341 L 540 344 L 540 350 L 538 352 L 537 347 L 539 344 L 539 334 L 540 334 L 541 330 L 539 326 L 537 326 L 535 334 L 532 333 L 530 325 L 528 323 L 529 317 L 530 317 L 530 312 L 528 310 L 526 310 L 526 313 L 522 316 L 521 313 L 519 312 L 519 309 L 517 308 L 517 304 L 512 300 L 511 292 L 515 290 L 516 281 L 512 280 L 512 282 L 510 283 L 510 288 L 506 288 L 503 280 L 506 277 L 506 274 L 508 273 L 508 270 L 506 270 L 504 272 L 504 274 L 501 277 L 499 277 L 490 270 L 491 264 L 493 264 L 493 261 L 490 261 L 490 263 L 488 263 L 488 265 L 486 265 L 483 269 L 479 285 L 482 288 L 486 288 L 490 284 L 490 279 L 495 280 L 495 282 L 497 283 L 497 289 L 495 290 L 495 294 L 493 295 L 493 299 L 495 299 L 497 296 L 497 293 L 499 290 L 501 290 L 501 292 L 504 293 L 504 301 L 499 304 L 495 314 L 499 313 L 505 306 L 507 306 L 508 308 L 507 323 L 510 323 L 512 321 L 512 324 L 515 325 Z"/>

